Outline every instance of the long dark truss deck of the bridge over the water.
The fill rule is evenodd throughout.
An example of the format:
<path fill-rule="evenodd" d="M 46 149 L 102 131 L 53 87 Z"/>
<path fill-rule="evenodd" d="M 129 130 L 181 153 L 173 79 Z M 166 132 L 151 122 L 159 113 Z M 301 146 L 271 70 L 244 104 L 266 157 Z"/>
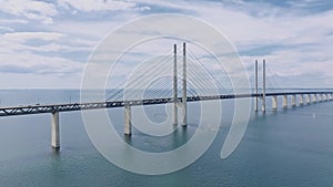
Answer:
<path fill-rule="evenodd" d="M 273 95 L 302 95 L 302 94 L 333 94 L 333 92 L 279 92 L 266 93 L 266 96 Z M 228 98 L 246 98 L 246 97 L 262 97 L 263 94 L 229 94 L 229 95 L 214 95 L 214 96 L 188 96 L 188 102 L 210 101 L 210 100 L 228 100 Z M 178 98 L 182 101 L 181 97 Z M 97 110 L 108 107 L 123 107 L 124 105 L 154 105 L 172 103 L 173 98 L 151 98 L 138 101 L 113 101 L 113 102 L 95 102 L 95 103 L 73 103 L 73 104 L 51 104 L 51 105 L 28 105 L 28 106 L 8 106 L 0 107 L 0 116 L 11 115 L 28 115 L 28 114 L 42 114 L 54 112 L 71 112 L 81 110 Z"/>

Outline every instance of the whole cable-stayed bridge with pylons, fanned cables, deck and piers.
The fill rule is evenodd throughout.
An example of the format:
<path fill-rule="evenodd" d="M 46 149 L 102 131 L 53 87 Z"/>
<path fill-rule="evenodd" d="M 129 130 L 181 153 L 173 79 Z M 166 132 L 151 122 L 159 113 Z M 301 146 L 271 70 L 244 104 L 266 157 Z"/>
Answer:
<path fill-rule="evenodd" d="M 180 54 L 178 51 L 182 51 Z M 37 104 L 27 106 L 0 107 L 0 116 L 51 113 L 52 147 L 60 146 L 59 113 L 81 110 L 124 107 L 124 134 L 132 134 L 131 107 L 139 105 L 172 104 L 173 124 L 179 123 L 178 110 L 181 110 L 181 125 L 186 125 L 186 103 L 213 100 L 255 98 L 254 111 L 266 111 L 266 97 L 272 98 L 272 108 L 278 110 L 278 96 L 283 98 L 282 106 L 294 107 L 315 102 L 333 100 L 333 90 L 329 89 L 266 89 L 265 61 L 262 64 L 262 82 L 259 80 L 259 63 L 255 61 L 254 89 L 235 93 L 230 86 L 223 86 L 183 43 L 179 50 L 174 45 L 167 55 L 152 59 L 150 65 L 139 65 L 130 79 L 105 91 L 105 95 L 87 103 Z M 163 74 L 163 76 L 160 76 Z M 228 76 L 228 75 L 226 75 Z M 158 79 L 155 79 L 158 77 Z M 276 81 L 275 81 L 276 82 Z M 274 84 L 276 84 L 274 82 Z M 212 86 L 213 85 L 213 86 Z M 229 87 L 229 89 L 228 89 Z M 291 102 L 289 102 L 291 100 Z"/>

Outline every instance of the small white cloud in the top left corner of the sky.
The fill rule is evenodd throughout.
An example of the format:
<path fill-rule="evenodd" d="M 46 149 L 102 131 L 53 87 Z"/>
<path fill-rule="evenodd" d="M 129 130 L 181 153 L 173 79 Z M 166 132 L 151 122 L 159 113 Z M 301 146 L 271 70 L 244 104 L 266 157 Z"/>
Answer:
<path fill-rule="evenodd" d="M 40 20 L 43 23 L 52 23 L 52 17 L 58 13 L 52 3 L 34 0 L 3 0 L 0 3 L 0 11 L 31 20 Z"/>

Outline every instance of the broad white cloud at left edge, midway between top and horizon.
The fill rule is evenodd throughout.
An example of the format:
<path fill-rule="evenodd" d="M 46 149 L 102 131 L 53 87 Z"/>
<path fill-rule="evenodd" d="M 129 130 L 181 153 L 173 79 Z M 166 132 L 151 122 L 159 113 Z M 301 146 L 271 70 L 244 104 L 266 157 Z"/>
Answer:
<path fill-rule="evenodd" d="M 0 34 L 0 72 L 1 74 L 48 74 L 53 76 L 77 76 L 81 74 L 83 64 L 73 60 L 58 56 L 49 56 L 36 52 L 49 52 L 60 50 L 78 50 L 68 45 L 53 42 L 65 38 L 56 32 L 13 32 Z M 31 46 L 29 40 L 42 40 L 49 44 Z M 79 48 L 82 50 L 82 48 Z M 87 50 L 83 48 L 83 50 Z M 11 81 L 11 80 L 8 80 Z M 42 82 L 37 80 L 37 82 Z M 27 82 L 29 85 L 29 82 Z"/>

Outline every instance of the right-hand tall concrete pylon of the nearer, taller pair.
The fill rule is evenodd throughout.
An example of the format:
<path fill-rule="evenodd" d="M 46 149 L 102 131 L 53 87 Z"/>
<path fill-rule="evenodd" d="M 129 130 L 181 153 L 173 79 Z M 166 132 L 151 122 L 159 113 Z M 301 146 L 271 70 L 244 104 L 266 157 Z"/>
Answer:
<path fill-rule="evenodd" d="M 188 125 L 188 113 L 186 113 L 186 100 L 188 100 L 188 94 L 186 94 L 186 43 L 183 43 L 183 95 L 182 95 L 182 114 L 183 114 L 183 120 L 182 120 L 182 125 L 186 126 Z"/>

